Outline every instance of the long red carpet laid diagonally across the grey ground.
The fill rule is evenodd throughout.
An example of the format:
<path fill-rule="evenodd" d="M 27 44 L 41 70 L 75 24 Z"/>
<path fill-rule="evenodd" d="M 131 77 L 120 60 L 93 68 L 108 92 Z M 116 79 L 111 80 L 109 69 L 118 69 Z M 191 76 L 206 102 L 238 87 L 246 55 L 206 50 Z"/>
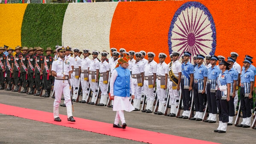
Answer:
<path fill-rule="evenodd" d="M 180 143 L 180 144 L 210 144 L 213 142 L 202 141 L 192 138 L 184 138 L 175 135 L 168 135 L 164 133 L 152 132 L 148 130 L 140 130 L 132 127 L 126 127 L 126 129 L 113 128 L 113 124 L 103 123 L 99 121 L 92 121 L 83 118 L 76 118 L 75 123 L 67 121 L 67 115 L 60 115 L 62 121 L 53 121 L 53 113 L 44 112 L 34 109 L 26 109 L 22 107 L 15 107 L 5 104 L 0 104 L 0 113 L 5 115 L 14 115 L 20 118 L 31 119 L 35 121 L 41 121 L 49 124 L 60 125 L 64 127 L 71 127 L 79 130 L 85 130 L 89 132 L 96 132 L 104 135 L 110 135 L 119 138 L 130 139 L 134 141 L 141 141 L 151 144 L 164 144 L 170 143 Z M 95 126 L 101 127 L 95 127 Z"/>

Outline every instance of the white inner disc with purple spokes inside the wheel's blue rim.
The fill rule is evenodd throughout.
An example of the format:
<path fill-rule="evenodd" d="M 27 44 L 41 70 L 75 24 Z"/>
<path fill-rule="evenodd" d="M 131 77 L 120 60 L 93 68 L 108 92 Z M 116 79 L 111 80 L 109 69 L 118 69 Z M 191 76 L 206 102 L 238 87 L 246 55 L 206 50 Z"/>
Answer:
<path fill-rule="evenodd" d="M 207 55 L 212 51 L 212 29 L 204 11 L 187 8 L 180 13 L 172 30 L 172 50 Z"/>

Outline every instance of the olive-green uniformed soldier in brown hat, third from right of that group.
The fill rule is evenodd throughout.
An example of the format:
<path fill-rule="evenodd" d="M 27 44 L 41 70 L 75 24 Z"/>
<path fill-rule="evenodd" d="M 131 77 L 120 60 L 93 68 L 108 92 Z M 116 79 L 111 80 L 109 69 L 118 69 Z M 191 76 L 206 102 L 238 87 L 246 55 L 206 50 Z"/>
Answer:
<path fill-rule="evenodd" d="M 35 91 L 35 55 L 34 55 L 34 51 L 35 49 L 33 49 L 32 47 L 29 48 L 29 58 L 27 61 L 28 64 L 28 80 L 29 80 L 29 87 L 30 87 L 30 91 L 27 92 L 27 95 L 33 95 L 34 91 Z"/>

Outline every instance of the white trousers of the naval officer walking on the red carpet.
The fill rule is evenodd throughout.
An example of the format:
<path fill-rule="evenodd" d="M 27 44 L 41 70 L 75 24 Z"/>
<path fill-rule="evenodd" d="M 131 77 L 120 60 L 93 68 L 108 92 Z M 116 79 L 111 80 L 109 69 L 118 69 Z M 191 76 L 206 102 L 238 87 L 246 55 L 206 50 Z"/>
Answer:
<path fill-rule="evenodd" d="M 55 100 L 53 103 L 53 115 L 54 118 L 59 117 L 58 115 L 58 107 L 59 104 L 61 103 L 61 95 L 64 95 L 65 98 L 65 104 L 66 107 L 72 107 L 72 103 L 71 103 L 71 98 L 70 98 L 70 84 L 68 83 L 67 80 L 65 80 L 63 82 L 63 80 L 56 80 L 54 81 L 54 92 L 55 92 Z M 68 117 L 69 117 L 68 113 Z M 71 115 L 72 116 L 72 110 L 71 110 Z"/>

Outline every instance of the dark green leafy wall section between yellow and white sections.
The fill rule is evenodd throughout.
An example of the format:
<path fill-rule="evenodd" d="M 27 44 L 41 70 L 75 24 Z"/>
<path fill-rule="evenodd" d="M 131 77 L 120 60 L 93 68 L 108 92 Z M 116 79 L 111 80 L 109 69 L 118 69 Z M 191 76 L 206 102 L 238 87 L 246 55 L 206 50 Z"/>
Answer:
<path fill-rule="evenodd" d="M 21 45 L 43 49 L 61 45 L 63 19 L 68 4 L 29 4 L 21 26 Z"/>

